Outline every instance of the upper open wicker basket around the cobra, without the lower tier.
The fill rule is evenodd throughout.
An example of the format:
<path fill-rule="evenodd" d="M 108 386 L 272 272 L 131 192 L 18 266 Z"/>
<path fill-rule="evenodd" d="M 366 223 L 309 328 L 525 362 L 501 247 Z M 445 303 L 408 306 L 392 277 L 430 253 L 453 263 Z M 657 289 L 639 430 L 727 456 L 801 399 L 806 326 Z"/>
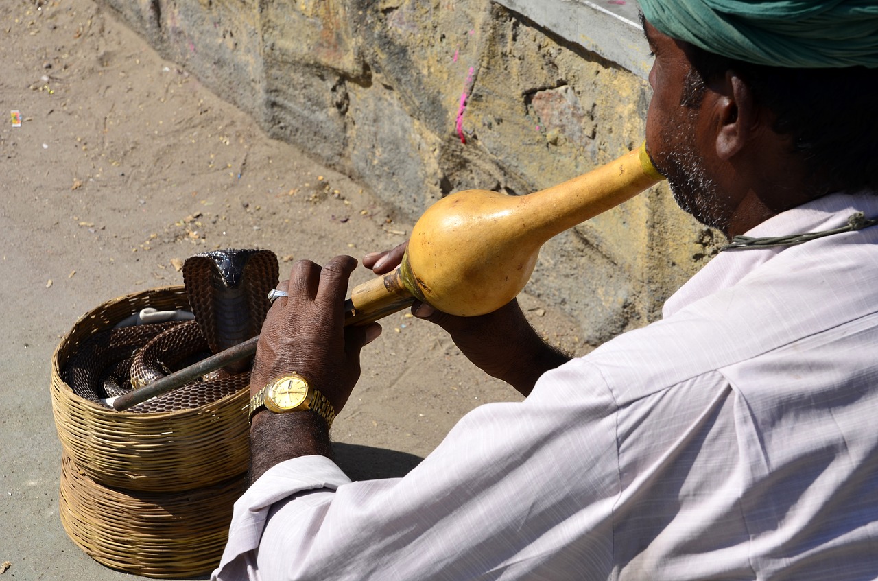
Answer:
<path fill-rule="evenodd" d="M 117 412 L 76 395 L 61 369 L 91 334 L 141 309 L 186 309 L 184 287 L 116 298 L 79 319 L 52 357 L 52 409 L 64 453 L 100 484 L 137 491 L 186 491 L 248 468 L 248 390 L 176 412 Z"/>

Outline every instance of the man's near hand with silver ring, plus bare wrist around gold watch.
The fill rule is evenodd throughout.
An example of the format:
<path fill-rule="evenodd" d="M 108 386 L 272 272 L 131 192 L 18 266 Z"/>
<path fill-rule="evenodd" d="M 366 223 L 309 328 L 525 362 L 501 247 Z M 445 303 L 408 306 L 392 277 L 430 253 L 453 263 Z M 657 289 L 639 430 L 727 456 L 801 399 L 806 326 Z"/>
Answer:
<path fill-rule="evenodd" d="M 356 260 L 336 256 L 320 268 L 296 262 L 290 279 L 278 285 L 278 298 L 263 324 L 250 395 L 275 379 L 297 372 L 341 412 L 360 377 L 360 350 L 381 334 L 381 326 L 344 326 L 344 298 Z M 332 457 L 326 421 L 315 412 L 258 412 L 250 432 L 251 478 L 299 455 Z"/>

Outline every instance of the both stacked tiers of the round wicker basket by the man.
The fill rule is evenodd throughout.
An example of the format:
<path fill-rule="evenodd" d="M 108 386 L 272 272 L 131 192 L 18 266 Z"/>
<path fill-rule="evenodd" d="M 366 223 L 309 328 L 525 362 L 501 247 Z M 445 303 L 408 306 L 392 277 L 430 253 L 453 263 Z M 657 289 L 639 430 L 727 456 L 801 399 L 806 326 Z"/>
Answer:
<path fill-rule="evenodd" d="M 189 308 L 183 286 L 116 298 L 76 321 L 54 352 L 61 522 L 98 563 L 148 577 L 192 577 L 219 563 L 244 489 L 248 389 L 195 409 L 134 413 L 82 398 L 61 378 L 92 334 L 148 306 Z"/>

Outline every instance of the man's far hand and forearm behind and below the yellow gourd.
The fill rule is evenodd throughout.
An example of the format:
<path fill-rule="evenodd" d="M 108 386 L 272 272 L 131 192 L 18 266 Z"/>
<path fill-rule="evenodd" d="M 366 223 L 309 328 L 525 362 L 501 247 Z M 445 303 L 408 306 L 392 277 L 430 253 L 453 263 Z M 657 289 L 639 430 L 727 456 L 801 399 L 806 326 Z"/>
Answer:
<path fill-rule="evenodd" d="M 375 274 L 390 272 L 402 260 L 406 247 L 404 242 L 392 250 L 365 255 L 363 266 Z M 456 317 L 421 302 L 412 305 L 412 313 L 441 326 L 467 359 L 525 396 L 544 372 L 571 359 L 543 341 L 515 299 L 479 317 Z"/>

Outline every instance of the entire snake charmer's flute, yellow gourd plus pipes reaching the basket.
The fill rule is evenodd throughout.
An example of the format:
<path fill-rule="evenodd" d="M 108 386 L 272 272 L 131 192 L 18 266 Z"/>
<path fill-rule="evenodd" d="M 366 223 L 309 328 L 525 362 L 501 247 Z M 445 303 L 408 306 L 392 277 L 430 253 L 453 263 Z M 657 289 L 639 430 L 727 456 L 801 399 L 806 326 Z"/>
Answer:
<path fill-rule="evenodd" d="M 546 240 L 659 183 L 645 144 L 615 161 L 527 196 L 465 190 L 443 197 L 418 219 L 399 269 L 357 285 L 344 324 L 364 325 L 415 300 L 443 312 L 493 312 L 524 289 Z M 255 354 L 256 336 L 153 384 L 108 400 L 126 410 Z"/>

